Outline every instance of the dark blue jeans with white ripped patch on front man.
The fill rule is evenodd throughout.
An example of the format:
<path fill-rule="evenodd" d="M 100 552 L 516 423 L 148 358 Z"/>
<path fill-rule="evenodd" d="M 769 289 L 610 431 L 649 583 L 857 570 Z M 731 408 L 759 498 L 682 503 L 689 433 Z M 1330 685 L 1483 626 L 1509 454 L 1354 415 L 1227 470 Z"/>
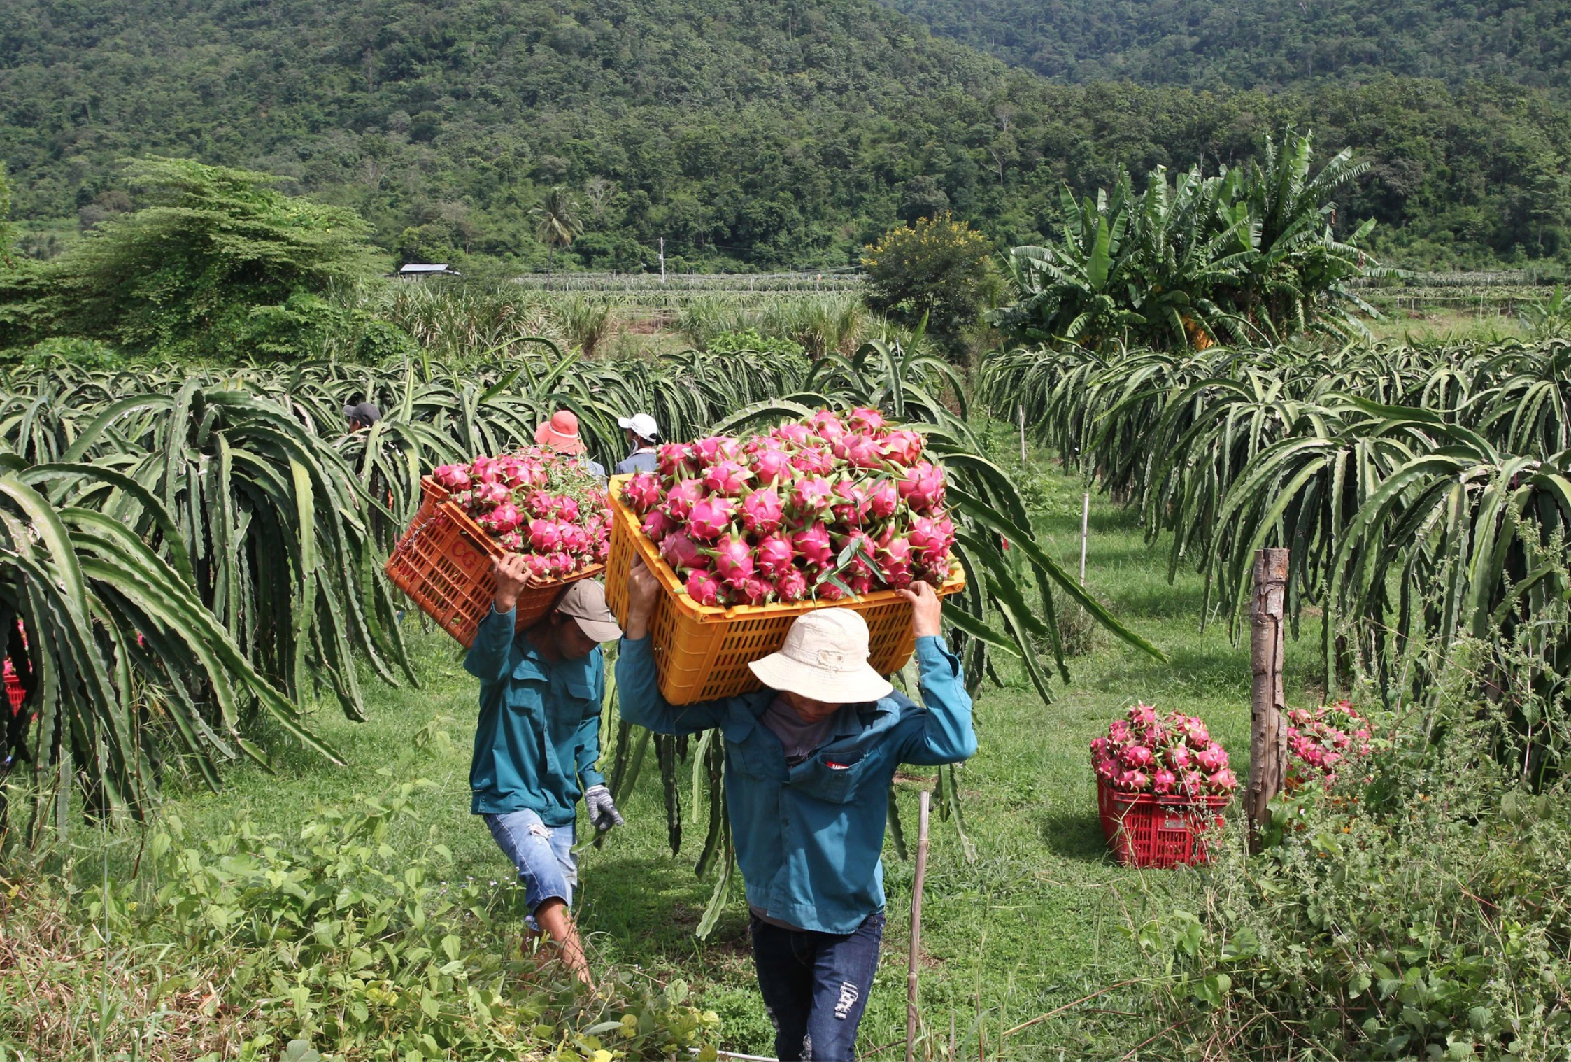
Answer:
<path fill-rule="evenodd" d="M 781 1062 L 855 1062 L 856 1026 L 878 968 L 883 911 L 855 933 L 812 933 L 751 917 L 753 961 Z"/>

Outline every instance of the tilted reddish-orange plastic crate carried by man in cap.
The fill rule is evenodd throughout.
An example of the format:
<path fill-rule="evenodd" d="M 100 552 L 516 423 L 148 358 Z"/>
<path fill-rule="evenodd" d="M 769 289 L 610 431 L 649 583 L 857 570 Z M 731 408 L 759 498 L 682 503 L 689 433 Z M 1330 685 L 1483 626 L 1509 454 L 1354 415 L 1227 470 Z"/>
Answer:
<path fill-rule="evenodd" d="M 419 485 L 419 511 L 388 556 L 386 573 L 419 611 L 468 649 L 496 597 L 492 558 L 506 551 L 470 514 L 448 501 L 448 492 L 430 478 Z M 591 564 L 567 578 L 526 586 L 518 594 L 515 628 L 523 630 L 551 611 L 569 583 L 603 570 L 603 564 Z"/>

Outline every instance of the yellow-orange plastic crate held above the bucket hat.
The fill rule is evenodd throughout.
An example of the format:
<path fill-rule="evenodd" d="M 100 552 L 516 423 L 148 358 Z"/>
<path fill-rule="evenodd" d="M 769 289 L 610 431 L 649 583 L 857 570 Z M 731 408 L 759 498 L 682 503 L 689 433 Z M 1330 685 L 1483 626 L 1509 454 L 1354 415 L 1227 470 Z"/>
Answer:
<path fill-rule="evenodd" d="M 605 597 L 617 621 L 627 622 L 627 572 L 641 556 L 657 575 L 665 594 L 655 605 L 650 633 L 660 693 L 669 704 L 694 704 L 764 688 L 749 663 L 786 644 L 793 619 L 817 608 L 850 608 L 867 621 L 869 663 L 881 674 L 905 666 L 916 649 L 911 638 L 911 606 L 894 591 L 873 591 L 839 602 L 793 605 L 699 605 L 682 591 L 671 566 L 639 529 L 638 515 L 622 504 L 622 481 L 611 479 L 611 558 L 605 570 Z M 957 564 L 938 592 L 957 594 L 966 577 Z"/>

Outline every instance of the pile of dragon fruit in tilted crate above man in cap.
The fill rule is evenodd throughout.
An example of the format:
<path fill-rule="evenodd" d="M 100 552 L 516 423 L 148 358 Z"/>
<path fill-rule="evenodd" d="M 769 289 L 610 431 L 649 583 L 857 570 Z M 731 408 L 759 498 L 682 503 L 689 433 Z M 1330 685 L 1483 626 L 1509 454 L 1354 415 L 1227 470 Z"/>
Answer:
<path fill-rule="evenodd" d="M 478 525 L 536 580 L 600 564 L 611 551 L 611 514 L 599 479 L 577 459 L 544 446 L 476 457 L 430 473 Z"/>

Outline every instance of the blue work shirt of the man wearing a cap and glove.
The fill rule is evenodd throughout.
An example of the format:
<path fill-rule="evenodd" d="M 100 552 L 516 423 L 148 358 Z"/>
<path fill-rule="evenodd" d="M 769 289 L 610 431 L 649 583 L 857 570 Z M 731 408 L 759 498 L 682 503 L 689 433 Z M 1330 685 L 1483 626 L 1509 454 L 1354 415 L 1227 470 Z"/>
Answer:
<path fill-rule="evenodd" d="M 514 635 L 514 619 L 515 610 L 492 608 L 463 658 L 481 680 L 470 811 L 528 809 L 547 826 L 566 826 L 583 792 L 605 784 L 594 768 L 605 663 L 599 647 L 581 660 L 547 660 L 525 632 Z"/>

